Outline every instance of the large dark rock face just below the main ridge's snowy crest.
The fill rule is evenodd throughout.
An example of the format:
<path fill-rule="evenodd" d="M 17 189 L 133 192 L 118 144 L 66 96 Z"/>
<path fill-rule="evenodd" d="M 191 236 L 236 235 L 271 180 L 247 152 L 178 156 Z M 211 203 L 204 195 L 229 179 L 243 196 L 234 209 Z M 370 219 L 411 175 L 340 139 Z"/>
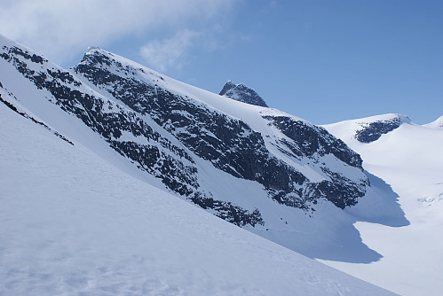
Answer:
<path fill-rule="evenodd" d="M 245 122 L 197 103 L 193 97 L 162 89 L 155 81 L 146 82 L 138 77 L 143 71 L 123 66 L 102 51 L 86 54 L 83 62 L 75 66 L 75 72 L 99 90 L 107 91 L 137 113 L 149 115 L 197 156 L 228 174 L 263 184 L 270 197 L 281 204 L 307 210 L 312 209 L 316 199 L 328 195 L 328 200 L 344 208 L 354 205 L 365 194 L 367 180 L 352 183 L 332 173 L 328 167 L 320 169 L 330 181 L 312 183 L 295 167 L 274 157 L 266 148 L 263 136 Z M 162 81 L 162 76 L 157 78 Z M 285 152 L 312 160 L 332 153 L 349 166 L 361 169 L 358 154 L 325 129 L 299 123 L 296 130 L 289 118 L 286 121 L 282 118 L 265 120 L 272 121 L 289 136 L 290 141 L 286 140 L 289 149 L 283 148 Z"/>

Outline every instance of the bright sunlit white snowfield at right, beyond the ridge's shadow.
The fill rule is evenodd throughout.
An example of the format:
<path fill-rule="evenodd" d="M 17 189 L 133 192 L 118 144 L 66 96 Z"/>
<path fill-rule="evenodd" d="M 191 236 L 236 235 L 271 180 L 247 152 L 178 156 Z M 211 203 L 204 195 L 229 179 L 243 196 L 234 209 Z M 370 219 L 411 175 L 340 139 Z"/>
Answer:
<path fill-rule="evenodd" d="M 394 114 L 395 115 L 395 114 Z M 393 114 L 382 115 L 386 119 Z M 395 117 L 395 116 L 394 116 Z M 404 121 L 375 142 L 355 138 L 361 122 L 380 117 L 342 121 L 325 126 L 359 152 L 363 167 L 382 178 L 399 195 L 410 225 L 389 228 L 357 222 L 365 244 L 384 258 L 368 265 L 328 261 L 328 265 L 401 295 L 441 295 L 443 292 L 443 129 Z"/>

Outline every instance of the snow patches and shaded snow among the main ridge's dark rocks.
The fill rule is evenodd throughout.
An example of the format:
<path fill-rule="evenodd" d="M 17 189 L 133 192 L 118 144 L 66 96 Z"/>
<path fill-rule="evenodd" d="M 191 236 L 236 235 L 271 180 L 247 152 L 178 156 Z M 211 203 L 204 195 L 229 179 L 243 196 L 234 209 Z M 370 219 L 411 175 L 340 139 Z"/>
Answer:
<path fill-rule="evenodd" d="M 5 44 L 4 48 L 17 46 L 23 51 L 33 52 L 2 36 L 0 36 L 0 42 Z M 102 50 L 92 49 L 87 54 L 92 54 L 94 51 L 101 52 Z M 279 138 L 285 137 L 284 134 L 281 130 L 269 125 L 269 121 L 264 120 L 263 116 L 288 116 L 294 121 L 303 121 L 306 125 L 311 125 L 311 123 L 279 110 L 247 105 L 227 97 L 218 96 L 158 74 L 154 70 L 138 65 L 126 58 L 107 51 L 102 52 L 116 58 L 118 63 L 124 65 L 124 69 L 127 66 L 130 67 L 132 71 L 129 71 L 128 75 L 135 75 L 145 82 L 158 82 L 159 86 L 165 90 L 189 97 L 189 102 L 192 104 L 205 105 L 208 110 L 225 114 L 230 118 L 241 118 L 251 129 L 262 134 L 266 149 L 271 154 L 287 162 L 290 166 L 296 167 L 297 170 L 303 172 L 312 180 L 318 181 L 328 177 L 319 167 L 323 161 L 328 164 L 329 168 L 344 174 L 353 181 L 358 181 L 361 178 L 366 179 L 367 176 L 371 180 L 372 186 L 367 187 L 367 194 L 359 200 L 358 206 L 352 206 L 352 210 L 348 208 L 344 211 L 326 199 L 319 199 L 317 205 L 315 205 L 315 212 L 309 213 L 277 203 L 268 196 L 262 184 L 229 175 L 214 167 L 209 161 L 196 157 L 191 153 L 195 156 L 194 161 L 195 166 L 198 167 L 199 185 L 202 191 L 210 192 L 215 199 L 232 202 L 234 205 L 248 209 L 250 212 L 255 208 L 260 211 L 265 225 L 256 225 L 256 227 L 246 225 L 244 229 L 311 258 L 369 263 L 380 260 L 383 255 L 362 242 L 360 233 L 353 224 L 358 221 L 382 223 L 392 227 L 408 224 L 397 203 L 397 195 L 383 180 L 368 175 L 367 172 L 362 172 L 357 167 L 344 165 L 343 162 L 328 154 L 319 158 L 318 164 L 312 163 L 312 160 L 308 158 L 296 160 L 288 157 L 275 146 L 275 144 L 278 144 Z M 18 56 L 18 59 L 26 62 L 22 58 L 20 59 L 20 56 Z M 107 106 L 107 110 L 112 106 L 113 110 L 131 112 L 122 101 L 109 96 L 106 90 L 93 87 L 86 79 L 82 79 L 81 75 L 76 75 L 74 70 L 61 69 L 50 61 L 45 61 L 43 64 L 29 64 L 32 64 L 29 67 L 35 73 L 48 72 L 49 70 L 67 74 L 68 71 L 69 74 L 75 77 L 75 80 L 82 81 L 78 87 L 75 87 L 72 83 L 69 84 L 69 87 L 77 88 L 85 94 L 99 98 Z M 123 71 L 118 67 L 112 67 L 111 70 Z M 44 121 L 48 126 L 51 126 L 51 129 L 66 136 L 75 144 L 82 144 L 124 173 L 159 189 L 166 190 L 160 179 L 138 169 L 137 162 L 131 162 L 128 158 L 122 157 L 104 141 L 102 136 L 86 126 L 83 121 L 73 116 L 72 113 L 63 111 L 60 105 L 56 104 L 57 99 L 52 96 L 50 91 L 36 88 L 34 82 L 20 74 L 20 71 L 17 71 L 17 68 L 4 58 L 0 58 L 0 82 L 3 83 L 0 91 L 3 91 L 4 99 L 10 104 L 17 106 L 21 111 L 31 114 L 40 121 Z M 8 93 L 11 95 L 8 95 Z M 83 108 L 81 105 L 79 107 Z M 156 124 L 152 118 L 138 115 L 156 132 L 169 139 L 172 144 L 176 144 L 178 147 L 183 146 L 177 138 Z M 146 140 L 139 136 L 135 137 L 123 133 L 122 138 L 146 144 Z M 180 198 L 186 199 L 184 196 Z"/>

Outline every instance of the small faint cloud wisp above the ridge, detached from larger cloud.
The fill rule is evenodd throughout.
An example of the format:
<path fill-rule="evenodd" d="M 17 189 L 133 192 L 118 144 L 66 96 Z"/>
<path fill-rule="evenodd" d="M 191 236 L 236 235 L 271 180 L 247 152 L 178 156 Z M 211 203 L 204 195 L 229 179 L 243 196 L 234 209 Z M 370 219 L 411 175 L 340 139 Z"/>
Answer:
<path fill-rule="evenodd" d="M 180 67 L 183 58 L 201 34 L 191 30 L 180 30 L 170 39 L 154 40 L 140 48 L 140 54 L 156 70 L 166 71 L 170 66 Z"/>

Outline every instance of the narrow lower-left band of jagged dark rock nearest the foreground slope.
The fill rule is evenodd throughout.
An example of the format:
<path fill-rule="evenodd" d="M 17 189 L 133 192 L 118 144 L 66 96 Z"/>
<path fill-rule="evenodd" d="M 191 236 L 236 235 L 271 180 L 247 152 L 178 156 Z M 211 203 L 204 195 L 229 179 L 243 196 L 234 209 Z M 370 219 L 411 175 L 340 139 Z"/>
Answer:
<path fill-rule="evenodd" d="M 169 139 L 154 131 L 137 113 L 104 97 L 79 90 L 82 82 L 67 71 L 45 68 L 43 65 L 47 60 L 41 57 L 31 56 L 17 47 L 3 50 L 0 57 L 12 63 L 38 89 L 49 90 L 56 105 L 81 119 L 116 152 L 137 163 L 138 168 L 160 178 L 170 190 L 186 196 L 200 206 L 204 204 L 204 208 L 213 209 L 219 217 L 238 226 L 263 223 L 258 211 L 250 213 L 240 206 L 214 200 L 206 196 L 206 192 L 199 191 L 198 169 L 193 158 L 184 149 L 171 144 Z M 38 66 L 42 71 L 36 70 L 35 64 L 42 65 Z M 131 135 L 134 141 L 121 139 L 123 133 Z M 135 141 L 138 138 L 143 138 L 143 142 L 148 144 L 138 143 Z"/>

